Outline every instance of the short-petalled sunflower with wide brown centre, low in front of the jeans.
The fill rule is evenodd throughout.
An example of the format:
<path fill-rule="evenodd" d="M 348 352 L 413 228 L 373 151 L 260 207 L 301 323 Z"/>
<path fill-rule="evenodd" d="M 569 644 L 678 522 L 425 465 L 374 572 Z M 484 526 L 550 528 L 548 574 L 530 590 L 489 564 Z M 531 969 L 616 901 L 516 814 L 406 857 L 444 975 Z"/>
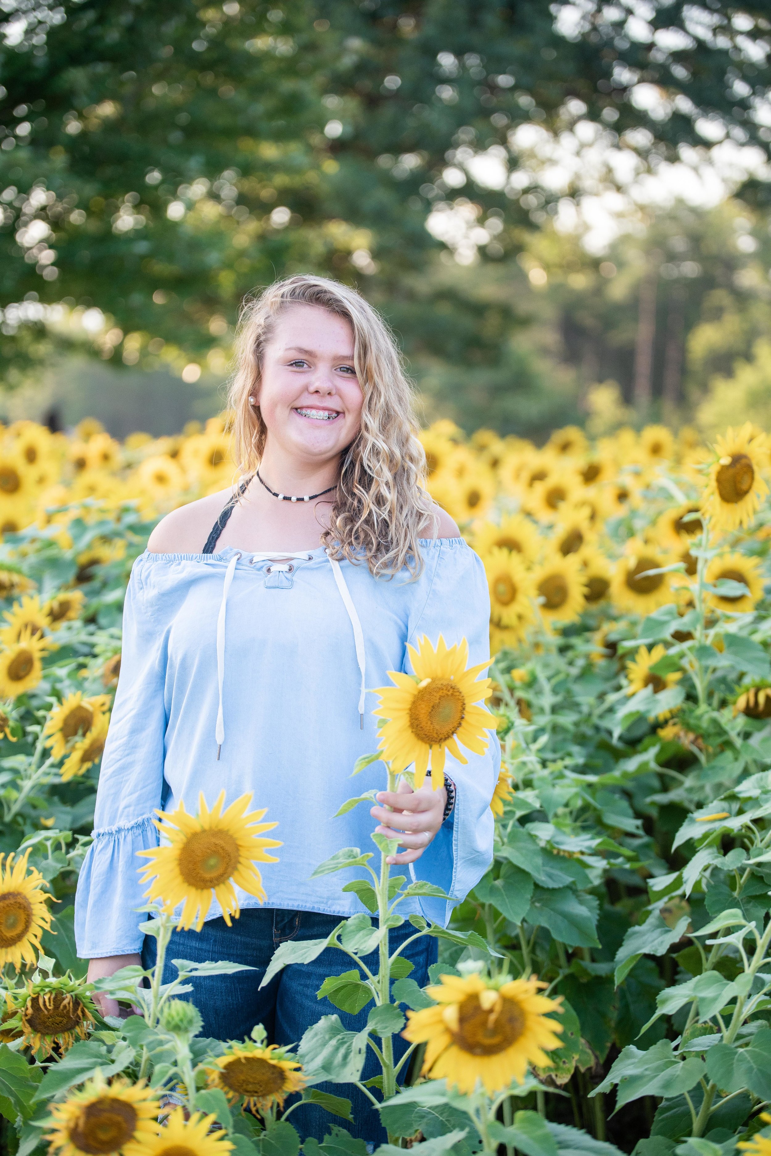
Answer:
<path fill-rule="evenodd" d="M 302 1067 L 286 1047 L 252 1040 L 231 1043 L 207 1068 L 210 1088 L 222 1088 L 231 1103 L 244 1097 L 247 1112 L 265 1112 L 305 1087 Z"/>

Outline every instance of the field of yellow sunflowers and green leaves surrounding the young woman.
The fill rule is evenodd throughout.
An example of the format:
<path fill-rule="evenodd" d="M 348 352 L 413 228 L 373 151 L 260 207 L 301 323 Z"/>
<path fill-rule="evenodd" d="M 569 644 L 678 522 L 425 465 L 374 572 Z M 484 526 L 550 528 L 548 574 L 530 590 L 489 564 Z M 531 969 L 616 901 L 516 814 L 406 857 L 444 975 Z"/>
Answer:
<path fill-rule="evenodd" d="M 429 490 L 485 563 L 494 658 L 465 669 L 463 644 L 429 639 L 413 666 L 454 669 L 464 697 L 432 759 L 497 728 L 494 860 L 448 929 L 410 917 L 440 940 L 425 990 L 389 928 L 402 898 L 439 889 L 392 876 L 380 835 L 319 865 L 360 868 L 346 888 L 372 918 L 279 947 L 265 981 L 300 947 L 340 958 L 319 993 L 339 1015 L 287 1050 L 260 1027 L 200 1036 L 186 980 L 235 964 L 177 961 L 162 983 L 173 906 L 200 927 L 211 902 L 185 879 L 171 894 L 175 846 L 237 831 L 223 906 L 238 914 L 233 883 L 270 903 L 271 824 L 245 800 L 159 818 L 167 844 L 137 864 L 158 964 L 96 985 L 121 1017 L 102 1017 L 74 947 L 130 565 L 160 516 L 232 482 L 226 421 L 123 444 L 93 422 L 0 430 L 5 1151 L 298 1156 L 313 1103 L 330 1127 L 305 1156 L 367 1156 L 344 1095 L 358 1084 L 381 1156 L 771 1156 L 771 443 L 749 424 L 714 445 L 652 425 L 537 449 L 449 422 L 421 440 Z M 384 786 L 422 779 L 391 736 L 425 690 L 381 690 L 364 762 Z M 368 1048 L 382 1074 L 365 1087 Z"/>

